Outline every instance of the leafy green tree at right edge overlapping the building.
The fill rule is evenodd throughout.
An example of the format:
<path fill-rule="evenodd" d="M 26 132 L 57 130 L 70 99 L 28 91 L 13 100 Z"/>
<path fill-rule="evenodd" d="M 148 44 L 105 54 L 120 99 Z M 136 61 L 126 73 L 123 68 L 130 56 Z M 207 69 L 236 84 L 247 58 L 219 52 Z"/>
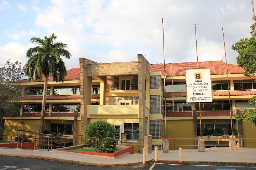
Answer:
<path fill-rule="evenodd" d="M 236 57 L 239 67 L 245 69 L 244 75 L 252 77 L 256 72 L 256 42 L 254 35 L 254 24 L 251 25 L 251 38 L 242 38 L 238 42 L 232 45 L 232 50 L 238 52 Z M 254 80 L 255 81 L 255 80 Z M 256 81 L 255 81 L 256 82 Z M 256 96 L 248 100 L 248 104 L 256 104 Z M 256 110 L 242 111 L 241 115 L 235 115 L 236 120 L 242 119 L 251 123 L 251 126 L 256 126 Z"/>

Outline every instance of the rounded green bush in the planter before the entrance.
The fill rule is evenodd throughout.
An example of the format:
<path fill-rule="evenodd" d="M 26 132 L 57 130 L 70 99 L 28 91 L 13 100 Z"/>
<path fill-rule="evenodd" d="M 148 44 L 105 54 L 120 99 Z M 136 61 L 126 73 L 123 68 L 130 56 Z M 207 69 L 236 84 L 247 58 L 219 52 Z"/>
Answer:
<path fill-rule="evenodd" d="M 95 147 L 98 147 L 103 138 L 113 138 L 116 135 L 116 128 L 114 128 L 114 125 L 101 119 L 86 125 L 84 131 L 85 134 L 89 136 L 90 140 L 95 143 Z"/>

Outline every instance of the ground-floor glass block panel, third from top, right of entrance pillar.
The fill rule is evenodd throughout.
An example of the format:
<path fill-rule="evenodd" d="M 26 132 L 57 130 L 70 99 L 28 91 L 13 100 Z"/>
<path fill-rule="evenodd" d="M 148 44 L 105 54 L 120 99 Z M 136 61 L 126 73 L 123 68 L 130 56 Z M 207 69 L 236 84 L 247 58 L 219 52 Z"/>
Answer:
<path fill-rule="evenodd" d="M 152 135 L 152 138 L 162 138 L 163 128 L 162 120 L 150 120 L 150 135 Z"/>

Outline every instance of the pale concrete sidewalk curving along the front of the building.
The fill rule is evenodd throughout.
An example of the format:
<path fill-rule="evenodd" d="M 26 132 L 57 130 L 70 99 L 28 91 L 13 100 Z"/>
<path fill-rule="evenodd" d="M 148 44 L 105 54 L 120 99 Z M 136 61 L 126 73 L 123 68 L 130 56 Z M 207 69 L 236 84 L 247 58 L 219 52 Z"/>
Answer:
<path fill-rule="evenodd" d="M 13 148 L 0 148 L 0 155 L 43 158 L 65 163 L 98 165 L 98 166 L 122 166 L 143 163 L 143 154 L 124 154 L 116 159 L 107 159 L 100 156 L 92 156 L 69 152 L 51 152 L 46 150 L 16 150 Z M 146 160 L 155 160 L 155 151 L 146 155 Z M 168 154 L 158 151 L 158 160 L 179 161 L 179 151 L 170 151 Z M 234 164 L 256 164 L 256 148 L 237 148 L 230 151 L 229 148 L 206 148 L 205 152 L 198 150 L 182 150 L 183 162 L 218 162 Z"/>

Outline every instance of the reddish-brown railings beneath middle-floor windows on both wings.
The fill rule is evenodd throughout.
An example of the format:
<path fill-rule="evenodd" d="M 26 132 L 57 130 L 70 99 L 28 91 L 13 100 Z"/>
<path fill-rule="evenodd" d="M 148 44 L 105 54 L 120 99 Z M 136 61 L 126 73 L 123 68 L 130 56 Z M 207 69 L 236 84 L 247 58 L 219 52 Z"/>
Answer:
<path fill-rule="evenodd" d="M 231 115 L 237 114 L 236 110 L 231 111 Z M 21 112 L 22 117 L 41 117 L 41 112 Z M 20 115 L 17 115 L 18 117 Z M 199 111 L 197 111 L 199 116 Z M 230 111 L 201 111 L 202 117 L 219 117 L 219 116 L 230 116 Z M 45 117 L 74 117 L 74 112 L 46 112 Z M 80 112 L 78 112 L 80 117 Z M 166 112 L 166 117 L 193 117 L 192 111 L 172 111 Z"/>

